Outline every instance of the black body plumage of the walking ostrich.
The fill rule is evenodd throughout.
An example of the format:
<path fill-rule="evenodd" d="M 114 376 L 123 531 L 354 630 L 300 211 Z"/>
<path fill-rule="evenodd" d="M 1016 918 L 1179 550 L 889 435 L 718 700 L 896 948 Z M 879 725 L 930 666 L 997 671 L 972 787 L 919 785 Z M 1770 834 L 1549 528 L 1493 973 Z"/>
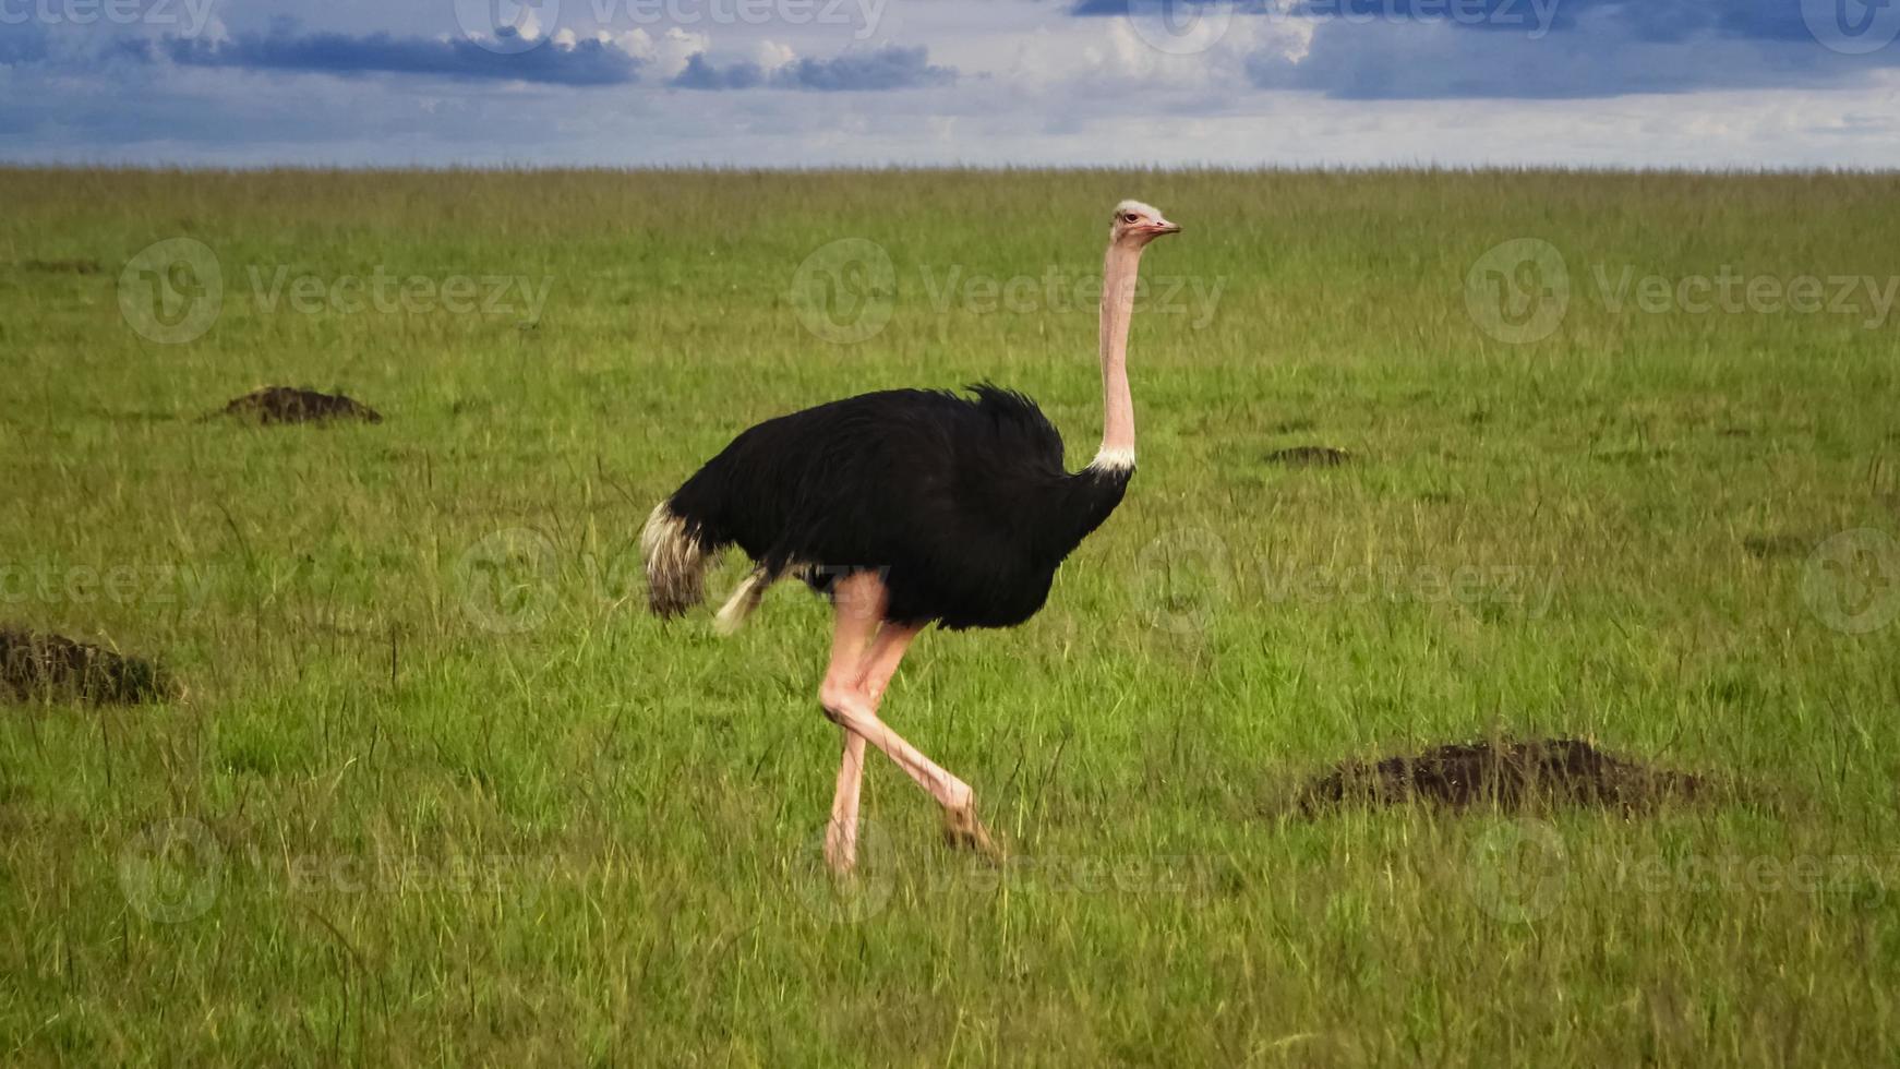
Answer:
<path fill-rule="evenodd" d="M 766 420 L 663 509 L 695 560 L 737 545 L 762 583 L 798 575 L 826 591 L 876 572 L 889 621 L 1018 625 L 1121 503 L 1132 469 L 1070 473 L 1034 401 L 990 384 L 969 391 L 887 389 Z M 690 596 L 654 591 L 661 613 L 695 600 L 697 575 Z"/>

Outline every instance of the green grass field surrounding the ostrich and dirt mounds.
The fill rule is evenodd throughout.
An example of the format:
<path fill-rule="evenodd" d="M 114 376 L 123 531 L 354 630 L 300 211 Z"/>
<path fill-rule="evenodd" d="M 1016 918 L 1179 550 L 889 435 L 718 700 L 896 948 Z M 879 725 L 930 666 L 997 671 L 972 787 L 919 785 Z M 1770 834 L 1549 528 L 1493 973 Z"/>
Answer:
<path fill-rule="evenodd" d="M 663 627 L 638 526 L 735 431 L 887 385 L 1024 389 L 1083 463 L 1125 196 L 1186 226 L 1129 501 L 885 703 L 1011 860 L 880 761 L 834 889 L 826 608 Z M 0 171 L 0 625 L 188 687 L 0 706 L 0 1061 L 1890 1063 L 1896 197 Z M 142 253 L 179 237 L 211 272 Z M 198 422 L 262 384 L 386 422 Z M 1355 461 L 1267 461 L 1302 444 Z M 1488 735 L 1738 788 L 1288 813 Z"/>

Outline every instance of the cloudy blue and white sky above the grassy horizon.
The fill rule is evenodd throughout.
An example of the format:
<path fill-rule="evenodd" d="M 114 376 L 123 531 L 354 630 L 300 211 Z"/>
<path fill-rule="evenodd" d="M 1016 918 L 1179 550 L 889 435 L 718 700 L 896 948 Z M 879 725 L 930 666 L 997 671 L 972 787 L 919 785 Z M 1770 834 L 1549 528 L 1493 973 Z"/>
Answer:
<path fill-rule="evenodd" d="M 0 0 L 0 161 L 1900 167 L 1900 0 Z"/>

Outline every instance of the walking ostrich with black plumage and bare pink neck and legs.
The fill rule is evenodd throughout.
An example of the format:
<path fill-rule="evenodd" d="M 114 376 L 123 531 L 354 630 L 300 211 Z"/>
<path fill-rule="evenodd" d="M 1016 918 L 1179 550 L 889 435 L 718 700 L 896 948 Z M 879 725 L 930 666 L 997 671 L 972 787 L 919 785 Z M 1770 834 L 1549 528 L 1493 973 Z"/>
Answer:
<path fill-rule="evenodd" d="M 1064 471 L 1062 437 L 1020 393 L 885 389 L 758 423 L 648 516 L 640 547 L 659 617 L 699 604 L 707 566 L 730 545 L 754 568 L 718 611 L 722 632 L 783 577 L 832 596 L 819 704 L 844 729 L 825 830 L 834 872 L 857 862 L 866 742 L 942 805 L 952 845 L 998 854 L 969 784 L 891 731 L 878 704 L 931 623 L 963 630 L 1036 615 L 1062 558 L 1121 503 L 1134 475 L 1134 277 L 1142 249 L 1176 232 L 1146 203 L 1115 207 L 1102 272 L 1102 448 L 1089 467 Z"/>

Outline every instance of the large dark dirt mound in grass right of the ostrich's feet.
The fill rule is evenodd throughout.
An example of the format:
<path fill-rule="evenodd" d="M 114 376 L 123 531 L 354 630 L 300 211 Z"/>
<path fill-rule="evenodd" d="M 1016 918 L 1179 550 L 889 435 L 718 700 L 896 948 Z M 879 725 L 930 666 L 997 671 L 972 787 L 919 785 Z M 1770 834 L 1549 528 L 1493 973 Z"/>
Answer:
<path fill-rule="evenodd" d="M 1300 813 L 1340 805 L 1446 805 L 1535 809 L 1590 805 L 1642 811 L 1708 794 L 1687 773 L 1615 758 L 1581 739 L 1533 739 L 1434 746 L 1383 761 L 1343 761 L 1300 792 Z"/>

